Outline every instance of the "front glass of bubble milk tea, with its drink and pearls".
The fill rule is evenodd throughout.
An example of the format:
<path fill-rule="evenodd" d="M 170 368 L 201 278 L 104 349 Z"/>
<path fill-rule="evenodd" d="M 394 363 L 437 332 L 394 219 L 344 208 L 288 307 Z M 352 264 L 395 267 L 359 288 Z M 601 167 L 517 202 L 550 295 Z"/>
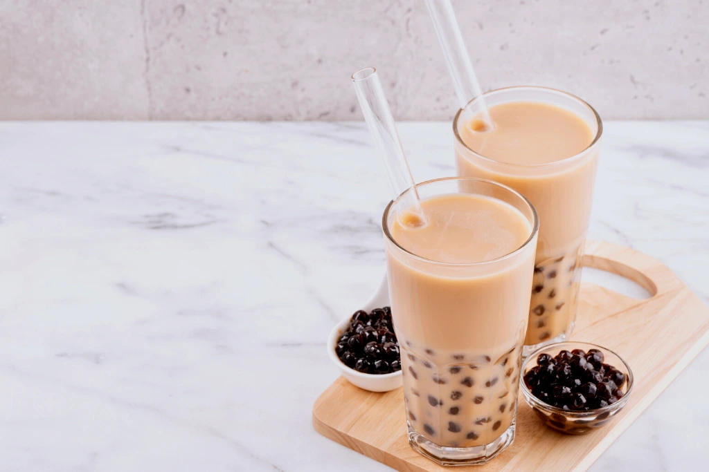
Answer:
<path fill-rule="evenodd" d="M 481 464 L 515 437 L 539 221 L 490 180 L 415 188 L 425 224 L 406 192 L 382 219 L 408 439 L 439 464 Z"/>

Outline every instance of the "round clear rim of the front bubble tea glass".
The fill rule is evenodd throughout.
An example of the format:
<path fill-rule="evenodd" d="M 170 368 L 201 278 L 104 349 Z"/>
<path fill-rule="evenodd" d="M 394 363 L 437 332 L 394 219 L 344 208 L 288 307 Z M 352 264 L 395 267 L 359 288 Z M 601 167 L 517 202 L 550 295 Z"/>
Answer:
<path fill-rule="evenodd" d="M 411 257 L 413 257 L 413 258 L 415 258 L 415 259 L 417 259 L 417 260 L 423 261 L 423 262 L 425 262 L 425 263 L 433 263 L 433 264 L 437 264 L 437 265 L 445 265 L 445 266 L 447 266 L 447 267 L 475 267 L 475 266 L 481 266 L 481 265 L 486 265 L 486 264 L 498 263 L 498 262 L 500 262 L 501 260 L 505 260 L 505 259 L 511 258 L 511 257 L 513 257 L 514 255 L 516 255 L 516 254 L 522 252 L 523 249 L 527 248 L 527 246 L 529 246 L 530 243 L 534 240 L 535 236 L 537 236 L 537 233 L 539 232 L 539 215 L 537 215 L 537 209 L 534 207 L 534 205 L 532 205 L 532 202 L 530 202 L 529 200 L 527 200 L 527 197 L 525 197 L 524 195 L 522 195 L 522 194 L 521 194 L 520 192 L 518 192 L 517 190 L 515 190 L 515 189 L 513 189 L 513 188 L 511 188 L 511 187 L 508 187 L 507 185 L 504 185 L 504 184 L 495 182 L 494 180 L 488 180 L 488 179 L 485 179 L 485 178 L 472 178 L 472 177 L 442 177 L 442 178 L 435 178 L 435 179 L 432 179 L 432 180 L 425 180 L 424 182 L 417 183 L 417 184 L 415 184 L 414 186 L 415 186 L 415 188 L 418 189 L 418 188 L 422 187 L 423 185 L 429 185 L 429 184 L 432 184 L 432 183 L 444 182 L 444 181 L 448 181 L 448 180 L 468 180 L 468 181 L 471 181 L 471 182 L 479 182 L 479 183 L 481 182 L 481 183 L 491 184 L 493 187 L 502 188 L 503 190 L 506 190 L 506 191 L 512 193 L 513 195 L 515 195 L 516 197 L 520 198 L 520 200 L 522 200 L 522 201 L 525 203 L 525 205 L 527 205 L 527 207 L 529 207 L 530 210 L 532 210 L 532 218 L 533 218 L 533 221 L 532 221 L 532 231 L 530 231 L 530 236 L 529 236 L 529 238 L 527 238 L 527 241 L 525 241 L 524 243 L 522 243 L 522 245 L 521 245 L 520 247 L 516 248 L 514 251 L 511 251 L 510 253 L 507 253 L 507 254 L 505 254 L 505 255 L 501 255 L 501 256 L 498 257 L 498 258 L 494 258 L 494 259 L 491 259 L 491 260 L 482 260 L 482 261 L 476 262 L 476 263 L 446 263 L 446 262 L 442 262 L 442 261 L 440 261 L 440 260 L 434 260 L 434 259 L 424 258 L 423 256 L 420 256 L 420 255 L 418 255 L 418 254 L 412 253 L 411 251 L 408 251 L 408 249 L 403 248 L 403 246 L 401 246 L 398 242 L 396 242 L 396 240 L 394 239 L 394 237 L 391 235 L 391 232 L 389 231 L 389 224 L 388 224 L 387 221 L 386 221 L 386 220 L 387 220 L 387 217 L 389 216 L 389 212 L 391 211 L 391 208 L 393 207 L 393 205 L 394 205 L 396 202 L 398 202 L 398 200 L 401 198 L 402 195 L 404 195 L 404 193 L 411 191 L 411 188 L 408 188 L 408 189 L 406 189 L 404 192 L 402 192 L 401 195 L 398 195 L 398 197 L 396 197 L 396 200 L 391 200 L 391 202 L 389 202 L 389 205 L 386 205 L 386 208 L 384 208 L 384 214 L 382 214 L 382 216 L 381 216 L 381 228 L 384 230 L 384 236 L 386 236 L 386 238 L 387 238 L 394 246 L 396 246 L 399 250 L 401 250 L 401 251 L 403 251 L 404 253 L 410 255 Z M 441 195 L 445 195 L 445 194 L 441 194 Z M 499 199 L 496 198 L 496 200 L 499 200 Z"/>

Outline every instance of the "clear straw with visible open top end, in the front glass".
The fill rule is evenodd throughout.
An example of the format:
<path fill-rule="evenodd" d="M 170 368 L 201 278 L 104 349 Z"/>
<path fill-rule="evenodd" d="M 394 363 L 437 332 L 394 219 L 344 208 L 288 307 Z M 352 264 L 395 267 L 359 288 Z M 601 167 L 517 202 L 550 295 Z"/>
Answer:
<path fill-rule="evenodd" d="M 381 159 L 386 166 L 386 175 L 389 176 L 389 183 L 393 192 L 392 199 L 396 200 L 402 195 L 404 208 L 409 208 L 412 218 L 406 219 L 406 224 L 413 226 L 423 226 L 426 217 L 418 200 L 418 191 L 413 183 L 411 171 L 403 154 L 401 141 L 399 141 L 396 125 L 391 116 L 389 103 L 384 96 L 384 88 L 381 88 L 379 74 L 374 67 L 367 67 L 352 74 L 352 84 L 357 93 L 359 107 L 362 108 L 364 121 L 369 126 L 374 144 L 379 149 Z M 411 192 L 406 190 L 412 189 Z"/>

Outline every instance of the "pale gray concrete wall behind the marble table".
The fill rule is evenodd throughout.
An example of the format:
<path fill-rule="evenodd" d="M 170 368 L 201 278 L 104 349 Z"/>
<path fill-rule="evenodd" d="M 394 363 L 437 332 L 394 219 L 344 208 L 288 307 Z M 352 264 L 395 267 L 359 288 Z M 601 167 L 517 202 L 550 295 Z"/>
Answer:
<path fill-rule="evenodd" d="M 485 89 L 709 118 L 709 0 L 453 4 Z M 359 120 L 369 65 L 399 120 L 454 114 L 423 0 L 0 0 L 0 119 Z"/>

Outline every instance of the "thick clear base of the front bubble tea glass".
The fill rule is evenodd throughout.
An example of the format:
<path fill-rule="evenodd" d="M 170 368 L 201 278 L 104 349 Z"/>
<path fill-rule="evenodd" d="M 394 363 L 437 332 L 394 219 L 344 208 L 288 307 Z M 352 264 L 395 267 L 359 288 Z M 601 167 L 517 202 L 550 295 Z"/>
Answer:
<path fill-rule="evenodd" d="M 406 422 L 408 444 L 419 454 L 428 457 L 441 466 L 474 466 L 486 464 L 493 457 L 507 449 L 515 440 L 515 420 L 493 442 L 474 447 L 443 447 L 433 444 Z"/>

